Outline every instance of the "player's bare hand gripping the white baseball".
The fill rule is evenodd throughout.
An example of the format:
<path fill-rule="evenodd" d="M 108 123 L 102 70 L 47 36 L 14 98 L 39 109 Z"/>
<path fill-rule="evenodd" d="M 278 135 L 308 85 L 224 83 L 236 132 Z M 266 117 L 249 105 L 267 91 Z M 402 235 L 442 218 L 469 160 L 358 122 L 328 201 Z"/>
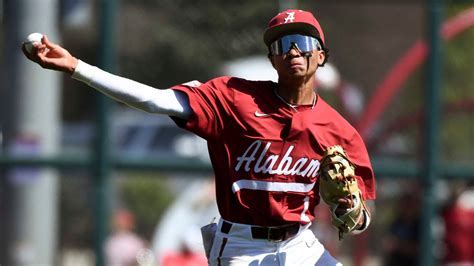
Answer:
<path fill-rule="evenodd" d="M 49 41 L 46 35 L 41 43 L 35 43 L 34 49 L 29 53 L 25 45 L 21 47 L 23 54 L 41 67 L 52 70 L 59 70 L 72 74 L 77 66 L 77 59 L 63 47 Z"/>

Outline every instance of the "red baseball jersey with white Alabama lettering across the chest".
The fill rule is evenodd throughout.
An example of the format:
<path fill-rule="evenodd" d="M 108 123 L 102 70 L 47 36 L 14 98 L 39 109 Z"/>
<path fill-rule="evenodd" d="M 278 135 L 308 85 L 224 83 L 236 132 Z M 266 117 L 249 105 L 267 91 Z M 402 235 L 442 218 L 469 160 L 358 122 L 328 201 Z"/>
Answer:
<path fill-rule="evenodd" d="M 323 151 L 341 145 L 356 165 L 365 199 L 375 181 L 356 130 L 318 96 L 297 111 L 275 93 L 272 81 L 219 77 L 173 87 L 189 98 L 193 114 L 173 118 L 207 140 L 223 219 L 277 226 L 314 220 Z"/>

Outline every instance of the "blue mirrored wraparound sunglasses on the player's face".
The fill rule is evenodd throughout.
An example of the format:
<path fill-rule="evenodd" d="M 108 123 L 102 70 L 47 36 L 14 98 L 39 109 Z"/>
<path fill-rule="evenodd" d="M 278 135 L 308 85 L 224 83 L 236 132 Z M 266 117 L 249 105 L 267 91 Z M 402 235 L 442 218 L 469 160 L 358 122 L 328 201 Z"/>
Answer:
<path fill-rule="evenodd" d="M 293 47 L 296 47 L 301 53 L 322 49 L 321 44 L 315 37 L 291 34 L 285 35 L 270 44 L 270 52 L 272 55 L 283 55 L 288 53 Z"/>

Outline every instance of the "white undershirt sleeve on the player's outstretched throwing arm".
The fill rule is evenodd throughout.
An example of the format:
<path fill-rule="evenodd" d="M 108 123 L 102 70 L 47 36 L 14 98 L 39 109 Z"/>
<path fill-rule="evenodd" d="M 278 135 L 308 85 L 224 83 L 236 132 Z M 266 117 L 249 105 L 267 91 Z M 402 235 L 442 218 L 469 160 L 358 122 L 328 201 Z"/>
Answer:
<path fill-rule="evenodd" d="M 72 78 L 139 110 L 187 119 L 191 115 L 184 93 L 151 86 L 108 73 L 79 60 Z"/>

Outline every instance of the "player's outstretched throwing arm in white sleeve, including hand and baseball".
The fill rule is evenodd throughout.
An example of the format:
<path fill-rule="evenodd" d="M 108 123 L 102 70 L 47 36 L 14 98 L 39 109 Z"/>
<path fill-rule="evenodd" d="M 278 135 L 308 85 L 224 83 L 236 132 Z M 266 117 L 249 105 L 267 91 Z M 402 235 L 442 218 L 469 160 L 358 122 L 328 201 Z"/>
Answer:
<path fill-rule="evenodd" d="M 149 113 L 187 118 L 189 103 L 173 90 L 159 90 L 110 74 L 72 56 L 41 33 L 30 34 L 22 44 L 25 56 L 45 69 L 57 70 L 82 81 L 111 98 Z"/>

